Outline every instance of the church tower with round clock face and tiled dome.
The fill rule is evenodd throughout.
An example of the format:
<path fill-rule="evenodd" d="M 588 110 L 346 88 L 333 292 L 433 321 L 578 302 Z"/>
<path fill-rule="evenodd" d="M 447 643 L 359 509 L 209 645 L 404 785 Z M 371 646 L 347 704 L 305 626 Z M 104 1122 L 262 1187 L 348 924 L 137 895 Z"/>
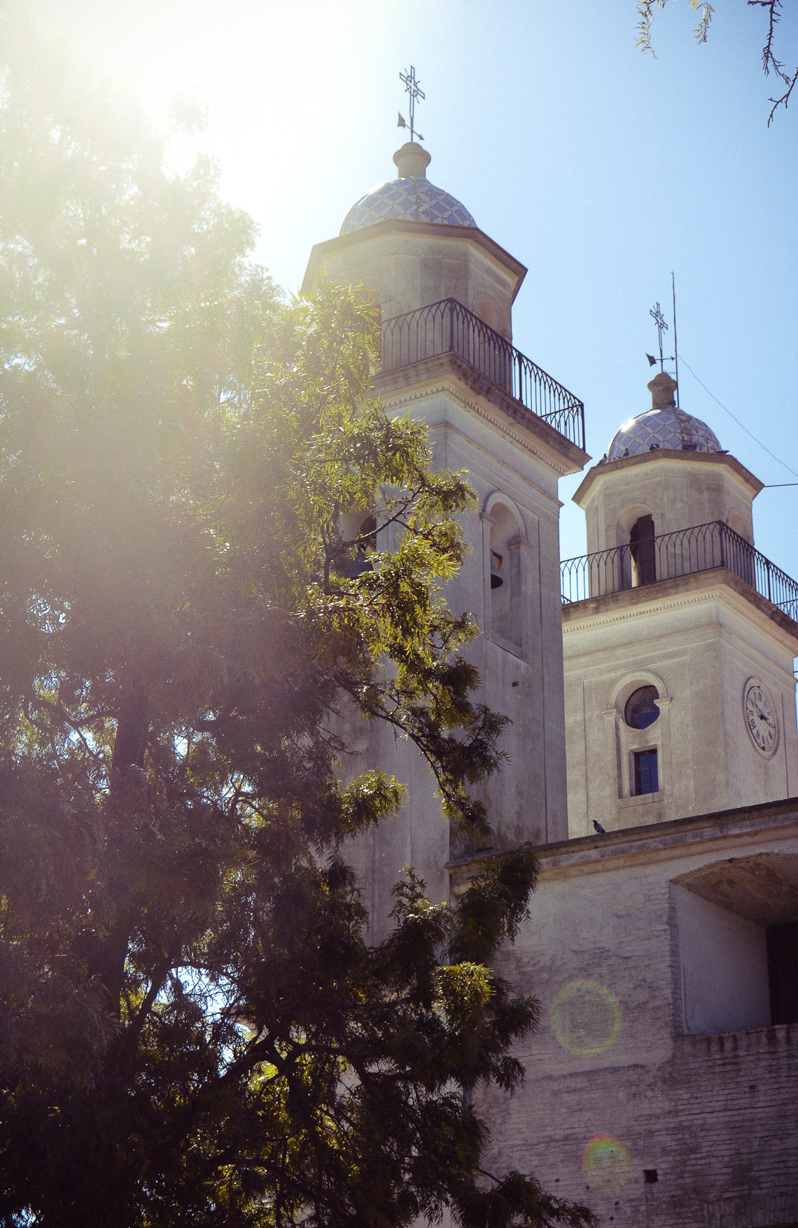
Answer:
<path fill-rule="evenodd" d="M 674 404 L 625 422 L 562 565 L 571 836 L 798 792 L 798 586 L 754 548 L 762 484 Z"/>

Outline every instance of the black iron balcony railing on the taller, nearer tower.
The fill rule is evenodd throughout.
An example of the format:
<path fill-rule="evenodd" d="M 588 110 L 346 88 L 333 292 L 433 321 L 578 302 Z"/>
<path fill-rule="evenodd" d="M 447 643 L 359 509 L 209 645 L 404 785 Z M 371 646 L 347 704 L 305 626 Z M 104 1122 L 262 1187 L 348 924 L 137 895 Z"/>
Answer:
<path fill-rule="evenodd" d="M 458 354 L 530 414 L 584 448 L 582 402 L 457 298 L 444 298 L 383 323 L 383 371 L 408 367 L 438 354 Z"/>

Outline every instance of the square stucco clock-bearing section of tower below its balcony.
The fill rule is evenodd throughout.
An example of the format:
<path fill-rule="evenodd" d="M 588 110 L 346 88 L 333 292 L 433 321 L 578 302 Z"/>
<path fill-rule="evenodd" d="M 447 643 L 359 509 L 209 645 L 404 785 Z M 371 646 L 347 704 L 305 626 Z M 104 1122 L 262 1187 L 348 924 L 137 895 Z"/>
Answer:
<path fill-rule="evenodd" d="M 798 793 L 798 629 L 728 569 L 564 607 L 568 830 L 608 831 Z M 765 758 L 744 698 L 759 678 L 778 736 Z M 659 718 L 631 728 L 630 695 L 654 686 Z M 659 788 L 635 796 L 633 754 L 658 753 Z"/>

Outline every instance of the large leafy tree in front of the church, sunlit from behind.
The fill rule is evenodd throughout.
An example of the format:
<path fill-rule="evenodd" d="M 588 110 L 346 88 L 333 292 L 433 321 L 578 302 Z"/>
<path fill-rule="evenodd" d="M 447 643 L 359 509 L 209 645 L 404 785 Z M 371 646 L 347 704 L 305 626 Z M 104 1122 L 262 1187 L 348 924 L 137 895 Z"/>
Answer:
<path fill-rule="evenodd" d="M 469 488 L 368 398 L 362 301 L 284 306 L 212 167 L 1 36 L 0 1222 L 589 1224 L 480 1168 L 534 858 L 454 910 L 408 871 L 376 948 L 345 862 L 403 790 L 341 783 L 341 704 L 487 823 Z M 366 570 L 355 512 L 399 533 Z"/>

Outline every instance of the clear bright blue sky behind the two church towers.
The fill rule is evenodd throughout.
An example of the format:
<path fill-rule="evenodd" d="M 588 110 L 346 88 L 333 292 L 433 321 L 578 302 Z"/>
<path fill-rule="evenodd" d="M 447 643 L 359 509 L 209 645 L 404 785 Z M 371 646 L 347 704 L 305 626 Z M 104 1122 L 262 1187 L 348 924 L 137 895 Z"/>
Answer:
<path fill-rule="evenodd" d="M 289 292 L 312 244 L 394 178 L 414 65 L 427 177 L 527 265 L 513 341 L 584 402 L 594 460 L 651 405 L 649 308 L 670 321 L 673 271 L 681 408 L 764 483 L 798 483 L 798 98 L 767 126 L 764 10 L 717 0 L 700 45 L 674 0 L 656 10 L 656 58 L 635 45 L 635 0 L 37 0 L 36 14 L 156 119 L 174 97 L 206 108 L 196 145 Z M 798 5 L 777 38 L 798 64 Z M 192 154 L 174 145 L 176 169 Z M 579 480 L 561 481 L 564 558 L 586 550 Z M 757 496 L 755 543 L 798 578 L 797 521 L 798 485 Z"/>

